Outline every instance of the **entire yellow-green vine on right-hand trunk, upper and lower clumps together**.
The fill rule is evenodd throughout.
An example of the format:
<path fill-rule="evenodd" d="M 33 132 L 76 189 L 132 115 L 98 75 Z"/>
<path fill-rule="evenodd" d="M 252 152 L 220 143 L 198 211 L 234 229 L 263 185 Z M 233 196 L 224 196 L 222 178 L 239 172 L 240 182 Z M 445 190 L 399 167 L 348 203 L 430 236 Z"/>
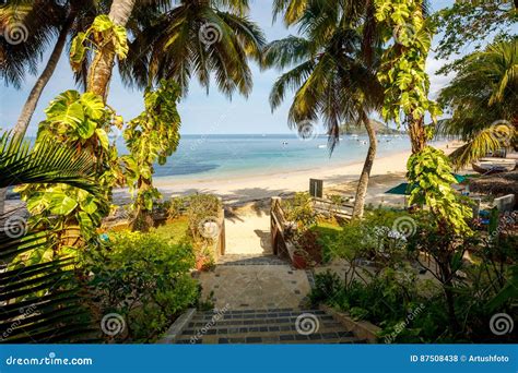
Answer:
<path fill-rule="evenodd" d="M 451 188 L 456 180 L 450 173 L 449 160 L 443 152 L 426 146 L 433 128 L 424 125 L 425 113 L 435 122 L 440 109 L 428 98 L 429 79 L 425 65 L 434 29 L 424 17 L 423 0 L 375 0 L 375 5 L 385 41 L 392 40 L 378 73 L 385 86 L 382 116 L 398 124 L 404 118 L 412 141 L 408 179 L 414 189 L 409 203 L 428 206 L 438 221 L 466 232 L 470 210 Z"/>

